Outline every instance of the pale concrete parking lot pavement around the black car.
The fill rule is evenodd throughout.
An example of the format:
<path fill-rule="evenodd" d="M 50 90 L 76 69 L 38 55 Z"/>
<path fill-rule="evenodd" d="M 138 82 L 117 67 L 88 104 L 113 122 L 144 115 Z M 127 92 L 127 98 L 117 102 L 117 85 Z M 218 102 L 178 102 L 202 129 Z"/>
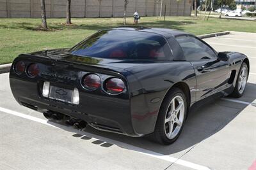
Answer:
<path fill-rule="evenodd" d="M 0 169 L 256 169 L 256 34 L 204 40 L 248 55 L 247 87 L 239 99 L 212 99 L 192 111 L 170 146 L 47 121 L 19 106 L 8 73 L 0 74 Z"/>

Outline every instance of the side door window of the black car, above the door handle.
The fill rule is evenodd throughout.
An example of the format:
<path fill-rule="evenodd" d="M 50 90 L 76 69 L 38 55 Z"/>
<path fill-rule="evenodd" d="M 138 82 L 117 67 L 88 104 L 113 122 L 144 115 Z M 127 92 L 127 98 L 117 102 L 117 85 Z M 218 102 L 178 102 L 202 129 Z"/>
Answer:
<path fill-rule="evenodd" d="M 179 36 L 176 38 L 182 48 L 186 60 L 205 60 L 216 58 L 216 53 L 207 45 L 191 36 Z"/>

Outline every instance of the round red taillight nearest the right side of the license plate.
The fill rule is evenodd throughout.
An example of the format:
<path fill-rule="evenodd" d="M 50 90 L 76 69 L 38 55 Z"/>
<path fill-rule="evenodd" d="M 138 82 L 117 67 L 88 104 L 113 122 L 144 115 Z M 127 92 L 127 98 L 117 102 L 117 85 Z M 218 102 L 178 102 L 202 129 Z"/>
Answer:
<path fill-rule="evenodd" d="M 101 85 L 100 77 L 97 74 L 88 74 L 84 77 L 83 85 L 90 90 L 98 89 Z"/>

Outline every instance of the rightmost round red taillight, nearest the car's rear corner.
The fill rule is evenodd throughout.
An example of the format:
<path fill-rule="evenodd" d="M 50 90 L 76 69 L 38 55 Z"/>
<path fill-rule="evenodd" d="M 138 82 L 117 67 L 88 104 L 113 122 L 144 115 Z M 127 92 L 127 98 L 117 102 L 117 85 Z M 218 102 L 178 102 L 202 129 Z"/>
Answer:
<path fill-rule="evenodd" d="M 106 81 L 105 87 L 110 94 L 119 94 L 125 89 L 124 81 L 120 78 L 109 79 L 108 81 Z"/>

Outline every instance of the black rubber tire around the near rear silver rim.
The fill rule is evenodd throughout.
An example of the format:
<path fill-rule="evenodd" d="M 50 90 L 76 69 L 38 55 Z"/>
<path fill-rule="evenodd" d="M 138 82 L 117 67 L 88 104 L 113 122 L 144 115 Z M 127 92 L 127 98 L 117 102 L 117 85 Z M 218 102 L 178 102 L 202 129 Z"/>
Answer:
<path fill-rule="evenodd" d="M 175 138 L 173 138 L 173 139 L 169 139 L 166 136 L 166 132 L 165 132 L 165 128 L 166 127 L 165 127 L 164 121 L 166 119 L 166 112 L 168 111 L 168 108 L 170 106 L 170 102 L 176 96 L 182 97 L 182 99 L 184 101 L 184 120 L 182 122 L 182 125 L 180 127 L 180 131 L 177 134 L 177 136 L 175 136 Z M 186 115 L 187 115 L 187 100 L 186 100 L 186 96 L 185 96 L 185 94 L 184 94 L 184 92 L 182 90 L 180 90 L 177 87 L 173 87 L 170 90 L 170 92 L 168 92 L 166 98 L 164 99 L 164 101 L 163 101 L 163 103 L 161 105 L 161 108 L 159 110 L 159 114 L 158 114 L 158 117 L 157 117 L 155 131 L 150 135 L 150 139 L 152 139 L 156 143 L 160 143 L 160 144 L 163 144 L 163 145 L 170 145 L 171 143 L 173 143 L 174 141 L 176 141 L 179 138 L 179 135 L 182 132 L 182 129 L 184 127 L 184 122 L 186 120 Z"/>

